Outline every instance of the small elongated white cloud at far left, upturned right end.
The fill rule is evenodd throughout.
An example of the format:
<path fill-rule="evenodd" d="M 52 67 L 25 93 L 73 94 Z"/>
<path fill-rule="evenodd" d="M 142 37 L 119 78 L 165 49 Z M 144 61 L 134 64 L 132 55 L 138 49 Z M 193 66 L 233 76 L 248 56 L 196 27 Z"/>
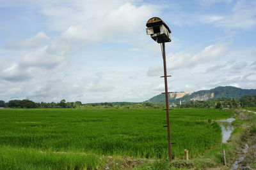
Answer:
<path fill-rule="evenodd" d="M 23 41 L 6 42 L 5 47 L 10 50 L 23 50 L 27 48 L 36 48 L 44 45 L 50 38 L 44 32 L 38 32 L 33 38 L 25 39 Z"/>

